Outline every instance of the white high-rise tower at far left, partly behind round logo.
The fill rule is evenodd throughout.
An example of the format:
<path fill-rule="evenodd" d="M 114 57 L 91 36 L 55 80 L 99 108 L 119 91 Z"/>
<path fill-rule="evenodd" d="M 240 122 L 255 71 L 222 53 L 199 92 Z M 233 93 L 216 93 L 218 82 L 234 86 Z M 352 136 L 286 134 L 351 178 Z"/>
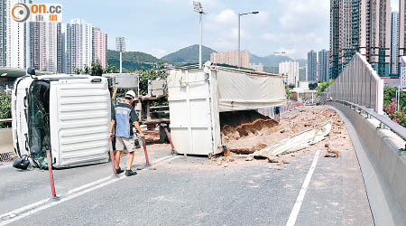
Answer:
<path fill-rule="evenodd" d="M 5 66 L 25 69 L 30 64 L 30 23 L 15 22 L 11 10 L 17 3 L 31 0 L 6 0 L 5 3 Z"/>

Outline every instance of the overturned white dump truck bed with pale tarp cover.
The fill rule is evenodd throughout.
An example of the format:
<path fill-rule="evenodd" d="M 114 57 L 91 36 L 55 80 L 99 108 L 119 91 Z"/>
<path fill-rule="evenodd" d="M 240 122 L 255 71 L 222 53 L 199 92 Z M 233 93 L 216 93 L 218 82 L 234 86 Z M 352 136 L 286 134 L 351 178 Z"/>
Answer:
<path fill-rule="evenodd" d="M 221 118 L 286 104 L 283 77 L 269 73 L 208 62 L 203 69 L 172 70 L 167 82 L 171 137 L 179 154 L 221 153 Z"/>

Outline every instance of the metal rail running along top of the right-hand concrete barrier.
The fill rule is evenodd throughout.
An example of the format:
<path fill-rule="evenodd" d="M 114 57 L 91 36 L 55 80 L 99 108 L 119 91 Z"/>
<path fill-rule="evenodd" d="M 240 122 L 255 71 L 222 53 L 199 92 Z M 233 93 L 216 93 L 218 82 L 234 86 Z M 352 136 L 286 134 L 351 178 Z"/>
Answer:
<path fill-rule="evenodd" d="M 346 100 L 328 100 L 328 101 L 335 101 L 338 103 L 341 103 L 343 105 L 349 106 L 350 108 L 355 109 L 356 112 L 358 113 L 364 113 L 367 118 L 375 118 L 376 120 L 380 121 L 381 123 L 381 128 L 383 128 L 383 126 L 389 128 L 393 133 L 395 133 L 396 135 L 398 135 L 399 137 L 401 137 L 403 140 L 406 140 L 406 128 L 405 127 L 401 127 L 401 125 L 393 122 L 390 118 L 387 118 L 383 115 L 380 115 L 376 112 L 374 112 L 374 110 L 370 109 L 370 108 L 365 108 L 363 106 L 359 106 L 355 103 L 346 101 Z M 405 146 L 406 149 L 406 146 Z"/>

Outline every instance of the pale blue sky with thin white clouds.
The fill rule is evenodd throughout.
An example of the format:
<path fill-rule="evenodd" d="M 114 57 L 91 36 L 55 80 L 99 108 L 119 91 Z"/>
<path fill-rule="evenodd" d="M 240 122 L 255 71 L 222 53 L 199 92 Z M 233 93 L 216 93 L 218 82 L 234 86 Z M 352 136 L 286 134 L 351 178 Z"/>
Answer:
<path fill-rule="evenodd" d="M 34 1 L 40 3 L 40 1 Z M 203 45 L 217 52 L 237 50 L 238 14 L 241 17 L 241 50 L 267 56 L 286 52 L 306 59 L 310 50 L 328 50 L 329 0 L 200 0 Z M 392 2 L 396 2 L 393 1 Z M 191 0 L 42 0 L 60 3 L 63 23 L 80 18 L 108 36 L 124 36 L 127 51 L 147 52 L 161 58 L 199 42 L 198 14 Z M 393 3 L 392 3 L 393 5 Z"/>

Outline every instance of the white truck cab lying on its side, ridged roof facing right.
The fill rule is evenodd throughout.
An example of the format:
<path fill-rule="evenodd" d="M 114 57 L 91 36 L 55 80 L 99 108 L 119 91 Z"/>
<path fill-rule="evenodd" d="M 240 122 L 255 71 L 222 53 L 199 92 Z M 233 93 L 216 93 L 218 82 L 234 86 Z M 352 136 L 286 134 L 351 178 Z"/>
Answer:
<path fill-rule="evenodd" d="M 24 76 L 12 94 L 15 153 L 32 165 L 69 167 L 108 161 L 110 94 L 106 78 Z"/>

